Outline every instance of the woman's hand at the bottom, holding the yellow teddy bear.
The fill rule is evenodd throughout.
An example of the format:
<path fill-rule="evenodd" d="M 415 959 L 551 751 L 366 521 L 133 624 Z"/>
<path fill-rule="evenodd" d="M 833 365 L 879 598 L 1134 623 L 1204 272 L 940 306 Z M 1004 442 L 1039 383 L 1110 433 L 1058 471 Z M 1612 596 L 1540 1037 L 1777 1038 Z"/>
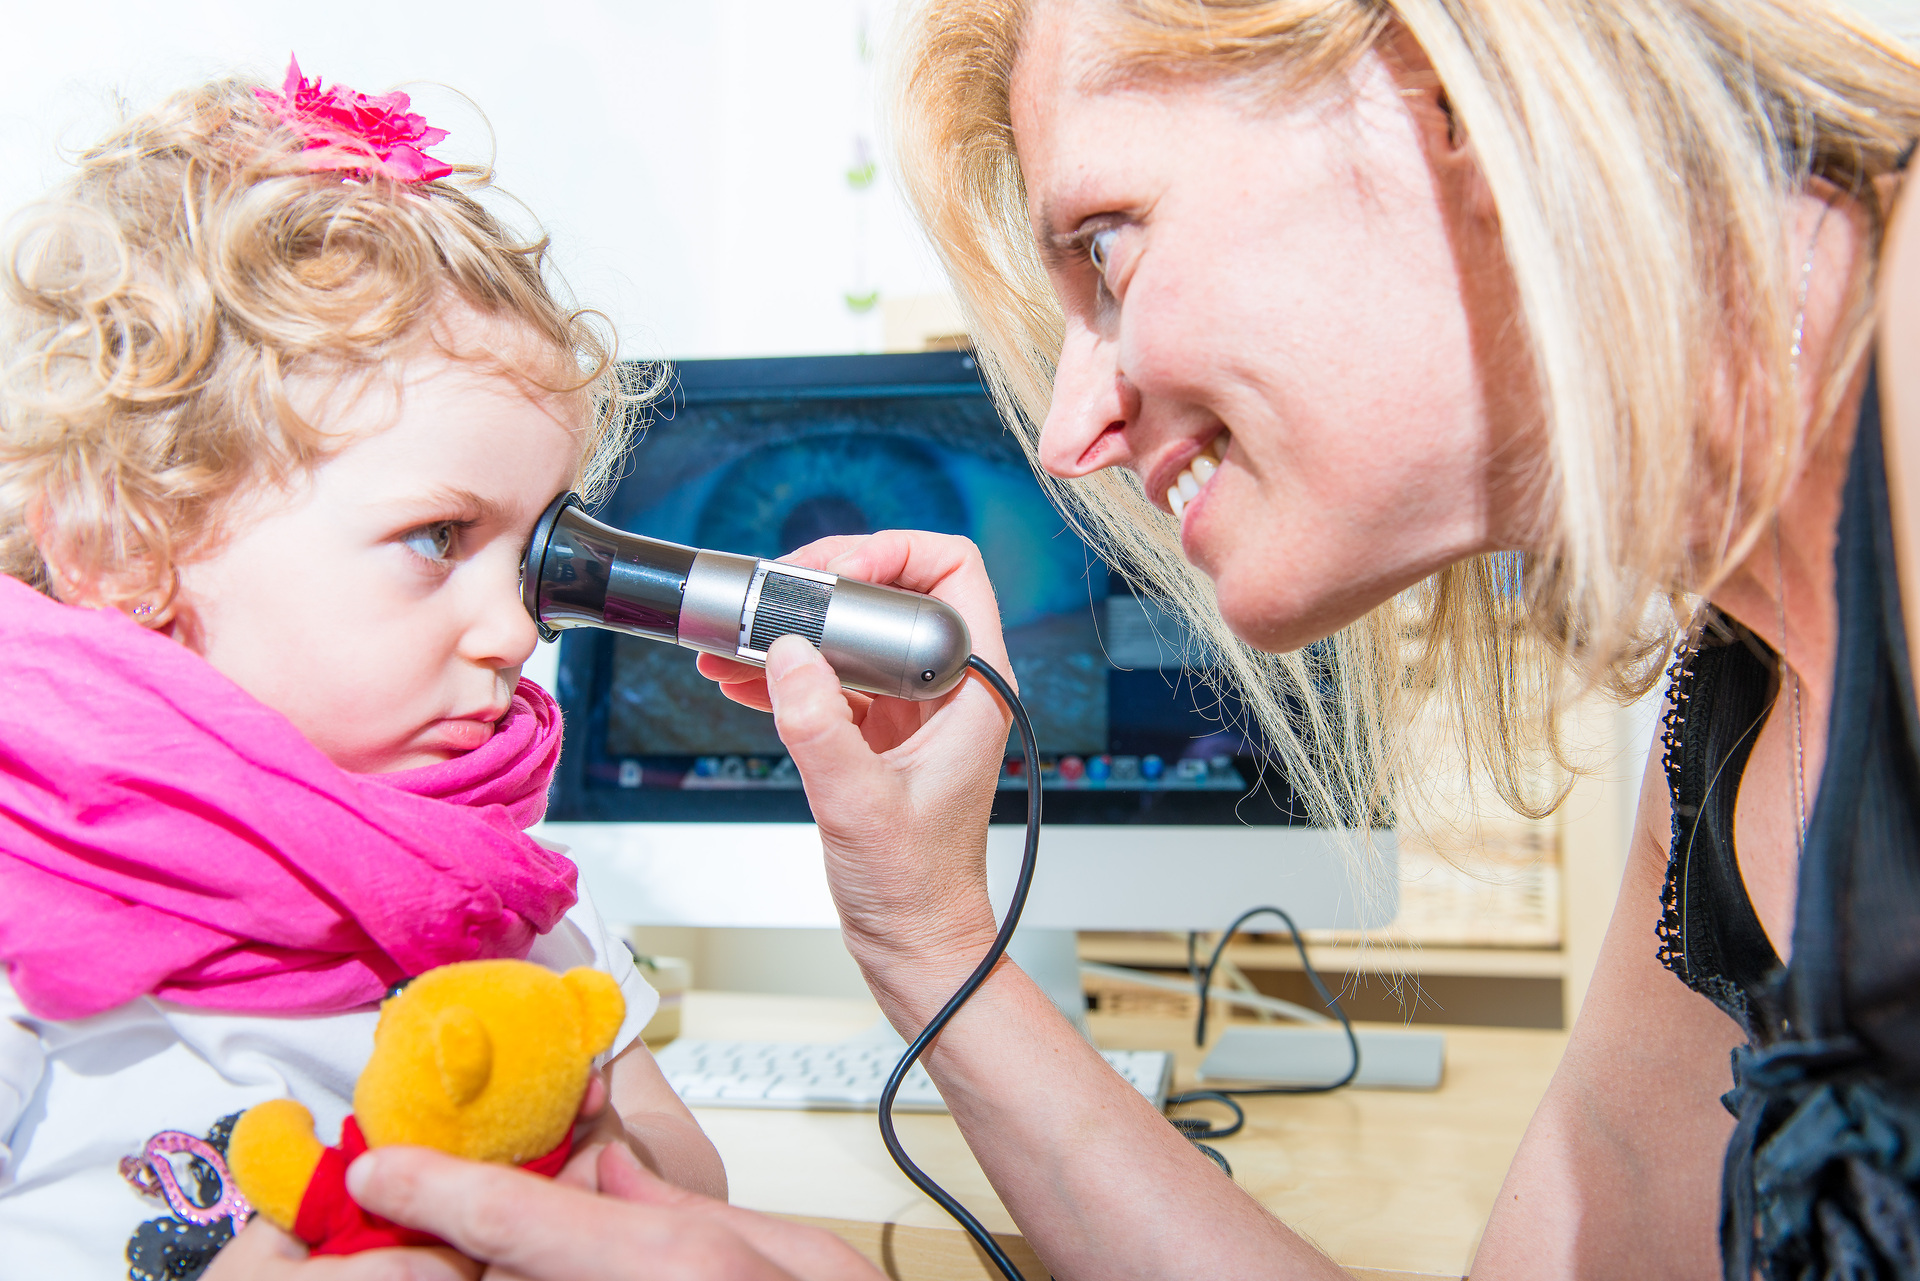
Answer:
<path fill-rule="evenodd" d="M 624 1145 L 601 1148 L 595 1181 L 605 1195 L 524 1170 L 399 1147 L 376 1148 L 348 1170 L 353 1200 L 492 1264 L 488 1275 L 524 1281 L 879 1277 L 839 1237 L 678 1189 L 647 1172 Z M 434 1275 L 432 1281 L 442 1279 Z"/>

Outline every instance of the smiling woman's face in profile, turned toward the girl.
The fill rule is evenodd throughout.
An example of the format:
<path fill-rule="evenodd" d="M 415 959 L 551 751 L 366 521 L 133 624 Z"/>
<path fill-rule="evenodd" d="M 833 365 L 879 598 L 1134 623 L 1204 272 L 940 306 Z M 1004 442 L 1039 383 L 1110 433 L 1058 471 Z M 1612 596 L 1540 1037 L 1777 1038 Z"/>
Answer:
<path fill-rule="evenodd" d="M 1384 56 L 1308 104 L 1100 86 L 1083 10 L 1043 6 L 1014 77 L 1066 311 L 1046 471 L 1133 471 L 1229 626 L 1275 651 L 1521 545 L 1540 463 L 1526 359 L 1438 94 Z"/>

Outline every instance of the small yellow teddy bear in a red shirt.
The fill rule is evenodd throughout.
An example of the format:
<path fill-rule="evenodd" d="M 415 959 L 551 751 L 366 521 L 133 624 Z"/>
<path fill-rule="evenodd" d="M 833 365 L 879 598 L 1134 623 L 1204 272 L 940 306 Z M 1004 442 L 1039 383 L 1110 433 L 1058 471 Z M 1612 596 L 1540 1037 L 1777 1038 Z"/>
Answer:
<path fill-rule="evenodd" d="M 409 1143 L 559 1173 L 593 1058 L 624 1016 L 626 999 L 601 970 L 555 974 L 528 960 L 428 970 L 380 1006 L 340 1147 L 321 1145 L 307 1108 L 275 1099 L 234 1125 L 227 1164 L 253 1208 L 313 1254 L 428 1245 L 348 1196 L 353 1158 Z"/>

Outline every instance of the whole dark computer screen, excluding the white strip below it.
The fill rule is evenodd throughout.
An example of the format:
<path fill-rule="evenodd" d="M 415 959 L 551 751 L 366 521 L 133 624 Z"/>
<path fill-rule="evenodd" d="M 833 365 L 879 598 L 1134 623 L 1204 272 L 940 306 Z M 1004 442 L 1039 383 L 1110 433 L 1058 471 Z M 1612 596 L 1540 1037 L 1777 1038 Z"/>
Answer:
<path fill-rule="evenodd" d="M 1135 597 L 1054 509 L 970 365 L 966 382 L 935 386 L 714 386 L 735 367 L 799 363 L 684 365 L 684 388 L 597 515 L 766 559 L 889 528 L 972 538 L 1039 741 L 1035 762 L 1008 741 L 1008 803 L 1018 805 L 1029 768 L 1069 803 L 1048 803 L 1066 822 L 1156 822 L 1265 791 L 1240 718 L 1183 666 L 1181 624 Z M 670 818 L 691 793 L 712 791 L 735 793 L 745 818 L 804 816 L 772 716 L 728 701 L 685 649 L 568 632 L 561 701 L 572 757 L 563 757 L 555 816 Z M 1244 818 L 1286 822 L 1290 803 L 1275 803 Z"/>

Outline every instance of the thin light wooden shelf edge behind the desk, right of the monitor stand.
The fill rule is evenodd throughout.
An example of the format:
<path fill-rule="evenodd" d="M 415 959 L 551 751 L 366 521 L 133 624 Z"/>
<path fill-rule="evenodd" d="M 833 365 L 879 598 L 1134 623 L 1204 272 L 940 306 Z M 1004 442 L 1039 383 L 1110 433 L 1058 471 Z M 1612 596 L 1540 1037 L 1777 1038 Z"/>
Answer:
<path fill-rule="evenodd" d="M 1187 943 L 1135 933 L 1081 933 L 1081 960 L 1139 970 L 1185 970 Z M 1317 970 L 1327 974 L 1450 974 L 1473 978 L 1565 978 L 1557 947 L 1419 947 L 1413 943 L 1308 943 Z M 1227 958 L 1242 970 L 1298 970 L 1292 943 L 1231 943 Z"/>

